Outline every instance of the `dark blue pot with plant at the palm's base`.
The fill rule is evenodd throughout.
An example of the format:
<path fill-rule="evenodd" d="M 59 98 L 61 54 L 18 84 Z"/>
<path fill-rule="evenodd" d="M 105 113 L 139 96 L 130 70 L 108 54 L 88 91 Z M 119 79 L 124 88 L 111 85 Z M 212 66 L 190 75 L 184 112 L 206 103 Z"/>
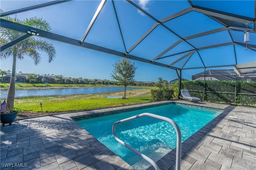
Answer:
<path fill-rule="evenodd" d="M 20 111 L 21 110 L 16 107 L 13 107 L 12 109 L 9 109 L 9 110 L 2 111 L 0 113 L 0 121 L 1 121 L 2 125 L 3 126 L 4 126 L 4 124 L 11 125 L 12 122 L 15 121 L 15 119 Z"/>

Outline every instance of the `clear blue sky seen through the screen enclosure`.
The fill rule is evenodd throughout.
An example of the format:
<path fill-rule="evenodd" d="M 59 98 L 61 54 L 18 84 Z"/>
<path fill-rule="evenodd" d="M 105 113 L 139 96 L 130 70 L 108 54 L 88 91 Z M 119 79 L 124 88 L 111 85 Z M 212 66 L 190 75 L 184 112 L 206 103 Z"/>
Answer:
<path fill-rule="evenodd" d="M 1 0 L 0 5 L 4 11 L 10 11 L 44 2 L 48 1 Z M 134 2 L 158 20 L 161 20 L 190 6 L 188 2 L 185 0 L 144 0 Z M 248 3 L 254 5 L 254 1 L 247 1 L 248 3 L 244 3 L 242 4 L 242 6 L 238 2 L 239 1 L 237 1 L 237 3 L 236 1 L 233 1 L 233 3 L 230 4 L 228 1 L 193 1 L 195 5 L 204 5 L 206 8 L 214 8 L 216 10 L 224 10 L 226 12 L 232 12 L 238 15 L 245 15 L 251 17 L 253 15 L 253 12 L 251 10 L 237 9 L 246 9 Z M 28 16 L 37 16 L 40 18 L 42 17 L 44 20 L 50 23 L 53 33 L 65 35 L 67 37 L 80 40 L 82 38 L 82 35 L 86 31 L 86 28 L 90 23 L 99 4 L 100 1 L 97 0 L 78 0 L 73 2 L 65 2 L 62 4 L 48 6 L 46 8 L 40 8 L 37 10 L 18 13 L 16 17 L 20 20 L 28 18 Z M 148 29 L 150 29 L 150 27 L 152 27 L 152 25 L 154 25 L 155 21 L 145 16 L 145 14 L 142 14 L 142 12 L 138 11 L 136 8 L 131 6 L 126 1 L 115 1 L 115 6 L 117 9 L 120 26 L 123 32 L 126 50 L 128 50 L 146 31 L 148 31 Z M 187 20 L 187 16 L 184 15 L 180 18 L 177 18 L 177 20 L 174 19 L 166 22 L 166 25 L 172 27 L 172 30 L 174 30 L 182 37 L 223 27 L 219 23 L 212 23 L 211 20 L 203 14 L 191 12 L 188 15 L 195 17 L 198 23 L 194 23 L 194 21 L 192 20 Z M 15 15 L 12 15 L 12 17 L 15 17 Z M 211 22 L 211 28 L 207 26 L 208 22 Z M 218 37 L 225 37 L 227 34 L 227 31 L 222 31 L 217 35 Z M 243 32 L 234 32 L 232 34 L 239 34 L 238 37 L 240 36 L 241 40 L 239 39 L 237 41 L 242 42 Z M 252 35 L 251 38 L 253 44 L 255 44 L 254 38 L 255 33 L 254 35 Z M 214 41 L 209 41 L 209 39 L 213 39 Z M 167 31 L 163 27 L 156 27 L 156 29 L 154 29 L 154 31 L 152 31 L 152 33 L 149 36 L 147 36 L 144 41 L 142 41 L 134 50 L 132 50 L 130 54 L 138 57 L 144 57 L 146 59 L 152 59 L 178 40 L 178 37 Z M 96 78 L 110 80 L 110 73 L 113 69 L 112 64 L 114 64 L 115 61 L 121 59 L 121 57 L 101 53 L 98 51 L 92 51 L 90 49 L 84 49 L 51 40 L 48 41 L 54 44 L 54 47 L 57 51 L 56 58 L 52 63 L 48 63 L 48 57 L 46 56 L 46 54 L 42 53 L 42 61 L 40 64 L 34 66 L 32 59 L 25 57 L 24 60 L 17 61 L 16 71 L 35 74 L 62 74 L 63 76 L 72 78 L 82 77 L 90 79 Z M 189 40 L 190 43 L 195 44 L 197 46 L 205 45 L 207 43 L 209 43 L 210 45 L 210 42 L 217 44 L 226 43 L 230 41 L 230 38 L 217 39 L 216 35 L 208 35 L 208 37 L 205 36 L 204 39 L 197 38 Z M 114 49 L 116 51 L 125 51 L 111 1 L 107 1 L 104 5 L 103 10 L 98 16 L 96 22 L 94 23 L 90 33 L 86 37 L 85 42 Z M 189 50 L 190 48 L 191 47 L 189 47 L 187 44 L 180 43 L 174 49 L 172 49 L 172 51 L 168 51 L 166 55 L 178 53 L 179 51 L 184 49 Z M 142 51 L 141 49 L 146 50 Z M 234 60 L 234 50 L 232 45 L 225 49 L 219 47 L 217 49 L 208 49 L 207 51 L 202 50 L 201 52 L 202 54 L 205 54 L 204 56 L 202 56 L 202 58 L 216 57 L 216 60 L 214 62 L 210 60 L 208 61 L 207 59 L 205 60 L 205 64 L 207 64 L 208 66 L 211 66 L 211 64 L 218 64 L 217 61 L 219 60 L 222 60 L 222 64 Z M 255 60 L 255 52 L 251 50 L 248 50 L 246 52 L 247 57 L 238 58 L 238 64 Z M 241 55 L 244 55 L 244 48 L 237 47 L 236 53 L 241 53 Z M 174 56 L 172 58 L 169 57 L 158 61 L 170 64 L 176 59 L 178 59 L 178 57 L 179 56 L 175 58 Z M 191 57 L 191 59 L 193 60 L 189 61 L 187 63 L 188 65 L 198 64 L 198 66 L 202 66 L 202 64 L 198 62 L 199 56 L 196 53 Z M 139 61 L 134 62 L 135 65 L 138 67 L 138 69 L 136 70 L 135 77 L 137 81 L 156 82 L 158 77 L 162 77 L 163 79 L 168 81 L 178 78 L 175 70 L 163 68 L 160 66 L 154 66 L 151 64 L 146 64 Z M 235 61 L 232 62 L 234 63 Z M 176 63 L 176 66 L 180 65 L 182 65 L 182 62 Z M 5 61 L 1 61 L 0 66 L 2 70 L 11 70 L 12 58 Z M 232 67 L 229 68 L 232 69 Z M 182 78 L 190 80 L 192 74 L 196 74 L 202 71 L 204 71 L 204 69 L 183 70 Z"/>

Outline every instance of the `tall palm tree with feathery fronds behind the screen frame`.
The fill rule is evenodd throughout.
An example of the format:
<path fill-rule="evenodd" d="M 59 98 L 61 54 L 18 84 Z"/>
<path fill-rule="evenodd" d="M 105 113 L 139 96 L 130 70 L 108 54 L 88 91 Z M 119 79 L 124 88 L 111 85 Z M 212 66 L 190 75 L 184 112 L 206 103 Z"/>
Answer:
<path fill-rule="evenodd" d="M 2 13 L 4 11 L 0 10 L 0 12 Z M 24 21 L 18 20 L 16 18 L 11 18 L 10 16 L 4 16 L 2 18 L 37 29 L 42 29 L 44 31 L 51 31 L 49 23 L 42 18 L 33 17 L 27 18 Z M 1 27 L 0 35 L 0 45 L 2 46 L 4 44 L 12 42 L 18 37 L 21 37 L 22 35 L 24 35 L 24 33 Z M 35 38 L 34 36 L 29 37 L 28 39 L 21 41 L 20 43 L 13 45 L 12 47 L 0 53 L 1 60 L 8 59 L 9 57 L 13 58 L 12 74 L 6 101 L 6 105 L 8 108 L 12 108 L 14 106 L 16 60 L 23 60 L 24 57 L 28 56 L 34 61 L 34 64 L 37 65 L 41 61 L 39 51 L 47 53 L 49 63 L 53 61 L 56 55 L 55 48 L 52 44 L 48 43 L 44 39 Z"/>

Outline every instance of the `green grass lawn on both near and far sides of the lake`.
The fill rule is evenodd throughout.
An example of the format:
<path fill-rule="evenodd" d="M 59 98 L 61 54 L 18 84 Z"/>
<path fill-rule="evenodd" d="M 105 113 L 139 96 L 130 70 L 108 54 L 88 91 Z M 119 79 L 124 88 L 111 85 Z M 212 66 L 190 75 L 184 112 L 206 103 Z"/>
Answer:
<path fill-rule="evenodd" d="M 1 90 L 7 90 L 9 84 L 0 84 Z M 17 89 L 42 89 L 42 88 L 81 88 L 81 87 L 100 87 L 100 86 L 117 86 L 117 85 L 88 85 L 88 84 L 28 84 L 16 83 Z M 14 107 L 26 112 L 40 113 L 63 113 L 69 111 L 79 111 L 88 109 L 98 109 L 104 107 L 125 106 L 131 104 L 140 104 L 151 101 L 150 89 L 156 87 L 148 86 L 129 86 L 147 89 L 133 89 L 126 91 L 126 99 L 106 98 L 107 96 L 124 96 L 124 92 L 102 93 L 102 94 L 79 94 L 68 96 L 30 96 L 15 98 Z M 150 88 L 150 89 L 148 89 Z M 131 93 L 131 97 L 129 97 Z M 140 96 L 136 94 L 143 93 Z M 146 94 L 144 94 L 146 93 Z M 134 96 L 133 96 L 134 95 Z M 42 103 L 42 108 L 40 106 Z"/>

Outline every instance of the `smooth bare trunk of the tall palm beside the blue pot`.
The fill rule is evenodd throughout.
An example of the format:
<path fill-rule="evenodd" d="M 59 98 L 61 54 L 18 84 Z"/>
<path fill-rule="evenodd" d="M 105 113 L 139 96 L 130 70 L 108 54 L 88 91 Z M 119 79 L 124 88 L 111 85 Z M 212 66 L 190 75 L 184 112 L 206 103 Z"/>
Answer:
<path fill-rule="evenodd" d="M 12 61 L 12 75 L 10 80 L 10 86 L 8 90 L 6 105 L 7 109 L 10 109 L 14 106 L 14 96 L 15 96 L 15 73 L 16 73 L 16 54 L 13 55 Z"/>

